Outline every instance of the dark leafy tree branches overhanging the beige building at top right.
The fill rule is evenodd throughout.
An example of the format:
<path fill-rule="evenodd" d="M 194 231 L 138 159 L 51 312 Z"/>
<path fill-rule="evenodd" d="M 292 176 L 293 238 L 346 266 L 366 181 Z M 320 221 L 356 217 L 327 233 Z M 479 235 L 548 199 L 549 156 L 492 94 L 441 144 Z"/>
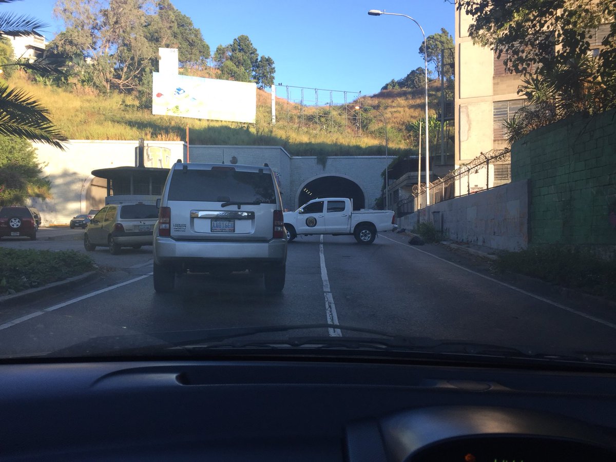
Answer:
<path fill-rule="evenodd" d="M 460 0 L 457 8 L 473 18 L 468 30 L 473 41 L 493 49 L 506 69 L 547 78 L 543 91 L 551 89 L 554 105 L 565 97 L 588 113 L 616 107 L 613 0 Z M 597 36 L 598 26 L 607 23 L 611 23 L 609 32 Z M 588 56 L 591 39 L 601 41 L 598 57 Z M 594 68 L 590 80 L 589 67 Z M 577 80 L 573 85 L 572 78 Z M 520 91 L 532 91 L 528 85 L 537 83 L 526 81 Z M 570 111 L 554 111 L 556 118 L 559 113 Z"/>

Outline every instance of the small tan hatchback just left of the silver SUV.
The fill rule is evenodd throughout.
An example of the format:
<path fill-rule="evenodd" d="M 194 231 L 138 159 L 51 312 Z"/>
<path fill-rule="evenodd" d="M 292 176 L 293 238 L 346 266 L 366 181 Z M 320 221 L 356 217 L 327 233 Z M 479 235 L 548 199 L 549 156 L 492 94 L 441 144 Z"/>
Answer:
<path fill-rule="evenodd" d="M 120 253 L 122 247 L 138 249 L 142 245 L 152 245 L 152 232 L 157 219 L 155 205 L 107 205 L 87 224 L 83 245 L 87 251 L 97 246 L 108 246 L 114 255 Z"/>

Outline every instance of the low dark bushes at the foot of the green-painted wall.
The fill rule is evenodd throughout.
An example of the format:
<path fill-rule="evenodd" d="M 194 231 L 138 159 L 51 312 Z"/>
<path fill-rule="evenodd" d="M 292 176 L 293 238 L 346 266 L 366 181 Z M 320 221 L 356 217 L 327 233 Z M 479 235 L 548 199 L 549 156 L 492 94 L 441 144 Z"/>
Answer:
<path fill-rule="evenodd" d="M 503 252 L 495 267 L 616 301 L 616 259 L 602 260 L 583 249 L 549 245 Z"/>

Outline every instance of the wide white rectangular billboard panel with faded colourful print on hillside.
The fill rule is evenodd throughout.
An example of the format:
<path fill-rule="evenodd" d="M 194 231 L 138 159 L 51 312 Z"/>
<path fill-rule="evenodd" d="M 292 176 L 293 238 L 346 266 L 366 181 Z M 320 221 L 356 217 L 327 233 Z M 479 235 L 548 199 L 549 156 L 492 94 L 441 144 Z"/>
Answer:
<path fill-rule="evenodd" d="M 152 75 L 152 114 L 254 123 L 257 84 L 187 75 Z"/>

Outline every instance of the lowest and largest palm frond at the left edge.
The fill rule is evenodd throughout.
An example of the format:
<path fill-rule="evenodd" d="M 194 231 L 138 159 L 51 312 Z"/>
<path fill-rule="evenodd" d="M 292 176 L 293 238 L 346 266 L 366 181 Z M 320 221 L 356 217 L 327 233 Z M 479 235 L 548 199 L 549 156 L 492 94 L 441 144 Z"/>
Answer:
<path fill-rule="evenodd" d="M 49 120 L 49 110 L 23 90 L 0 84 L 0 134 L 39 141 L 64 150 L 67 137 Z"/>

